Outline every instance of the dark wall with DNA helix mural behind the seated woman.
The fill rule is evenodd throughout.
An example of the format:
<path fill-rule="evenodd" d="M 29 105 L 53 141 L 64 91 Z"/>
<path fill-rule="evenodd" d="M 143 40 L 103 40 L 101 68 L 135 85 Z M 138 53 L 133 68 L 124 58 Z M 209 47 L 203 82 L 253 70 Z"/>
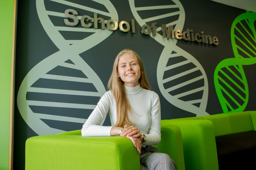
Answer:
<path fill-rule="evenodd" d="M 143 60 L 161 119 L 256 110 L 255 13 L 210 0 L 23 0 L 17 13 L 13 169 L 25 169 L 29 137 L 81 129 L 126 48 Z"/>

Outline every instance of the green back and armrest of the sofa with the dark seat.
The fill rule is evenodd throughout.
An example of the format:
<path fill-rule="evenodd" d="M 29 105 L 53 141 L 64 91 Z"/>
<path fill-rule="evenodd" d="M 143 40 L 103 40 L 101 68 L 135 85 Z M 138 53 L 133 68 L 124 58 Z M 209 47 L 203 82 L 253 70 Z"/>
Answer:
<path fill-rule="evenodd" d="M 255 131 L 256 111 L 162 120 L 161 124 L 180 127 L 187 170 L 218 170 L 215 138 Z M 233 163 L 243 169 L 240 157 L 243 155 L 238 155 Z"/>

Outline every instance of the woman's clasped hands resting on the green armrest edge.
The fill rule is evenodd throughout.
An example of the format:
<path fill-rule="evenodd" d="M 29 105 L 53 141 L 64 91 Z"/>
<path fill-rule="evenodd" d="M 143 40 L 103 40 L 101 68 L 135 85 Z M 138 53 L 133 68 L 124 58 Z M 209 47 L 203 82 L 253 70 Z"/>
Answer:
<path fill-rule="evenodd" d="M 134 126 L 124 126 L 124 130 L 120 133 L 120 136 L 127 137 L 132 141 L 134 146 L 137 148 L 138 153 L 141 153 L 141 132 L 137 127 Z"/>

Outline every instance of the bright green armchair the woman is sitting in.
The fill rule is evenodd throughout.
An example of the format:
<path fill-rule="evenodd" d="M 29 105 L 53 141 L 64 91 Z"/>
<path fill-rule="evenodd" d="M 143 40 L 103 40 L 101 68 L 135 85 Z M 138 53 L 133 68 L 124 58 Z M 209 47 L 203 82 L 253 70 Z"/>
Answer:
<path fill-rule="evenodd" d="M 155 146 L 185 170 L 181 132 L 161 126 Z M 82 137 L 81 130 L 31 137 L 26 141 L 26 170 L 140 170 L 140 156 L 132 142 L 120 136 Z"/>

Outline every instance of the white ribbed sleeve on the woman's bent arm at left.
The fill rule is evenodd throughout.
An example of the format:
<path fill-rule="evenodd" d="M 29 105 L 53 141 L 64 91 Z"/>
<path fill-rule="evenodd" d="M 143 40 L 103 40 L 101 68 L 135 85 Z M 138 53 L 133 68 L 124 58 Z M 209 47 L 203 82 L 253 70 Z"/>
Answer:
<path fill-rule="evenodd" d="M 83 128 L 81 130 L 82 136 L 111 136 L 110 131 L 112 127 L 100 126 L 100 123 L 105 119 L 109 112 L 112 100 L 111 95 L 110 91 L 107 91 L 100 98 L 97 106 L 83 124 Z"/>

